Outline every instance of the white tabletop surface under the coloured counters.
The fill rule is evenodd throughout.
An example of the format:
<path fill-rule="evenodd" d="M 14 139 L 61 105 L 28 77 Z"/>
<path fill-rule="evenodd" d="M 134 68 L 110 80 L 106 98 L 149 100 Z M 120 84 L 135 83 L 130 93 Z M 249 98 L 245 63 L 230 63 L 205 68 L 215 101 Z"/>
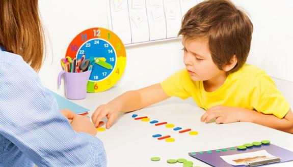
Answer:
<path fill-rule="evenodd" d="M 114 87 L 101 93 L 88 93 L 87 98 L 73 101 L 90 109 L 90 115 L 101 104 L 105 104 L 119 94 L 130 90 L 126 87 Z M 185 158 L 193 161 L 194 166 L 209 166 L 188 155 L 189 152 L 208 151 L 243 145 L 245 143 L 269 140 L 272 144 L 293 151 L 293 135 L 264 127 L 251 122 L 215 124 L 200 122 L 204 110 L 198 108 L 192 99 L 185 101 L 171 97 L 167 101 L 148 108 L 121 114 L 111 129 L 97 133 L 107 153 L 108 166 L 183 166 L 182 163 L 169 164 L 167 159 Z M 165 125 L 155 126 L 149 122 L 134 120 L 132 114 L 147 116 L 151 120 L 191 128 L 198 131 L 197 136 L 179 133 Z M 157 133 L 170 135 L 175 142 L 157 140 L 152 137 Z M 160 161 L 151 161 L 151 157 L 161 157 Z M 270 166 L 293 166 L 293 161 L 271 164 Z"/>

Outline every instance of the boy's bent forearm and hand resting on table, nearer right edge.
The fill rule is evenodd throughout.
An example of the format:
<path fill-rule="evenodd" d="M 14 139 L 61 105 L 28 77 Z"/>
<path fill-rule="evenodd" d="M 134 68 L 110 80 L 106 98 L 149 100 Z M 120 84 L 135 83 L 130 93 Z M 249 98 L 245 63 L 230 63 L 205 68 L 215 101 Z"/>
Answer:
<path fill-rule="evenodd" d="M 209 122 L 212 118 L 216 118 L 216 123 L 231 123 L 231 122 L 253 122 L 263 126 L 272 127 L 278 130 L 293 133 L 293 114 L 291 109 L 282 118 L 278 118 L 272 114 L 258 113 L 254 110 L 215 106 L 208 109 L 201 117 L 202 122 Z"/>

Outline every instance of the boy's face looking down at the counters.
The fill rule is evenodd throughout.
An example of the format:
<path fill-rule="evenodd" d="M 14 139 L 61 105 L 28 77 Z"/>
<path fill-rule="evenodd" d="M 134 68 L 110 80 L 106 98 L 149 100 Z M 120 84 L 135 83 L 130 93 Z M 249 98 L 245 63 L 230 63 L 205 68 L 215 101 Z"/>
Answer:
<path fill-rule="evenodd" d="M 225 74 L 212 61 L 206 39 L 185 40 L 183 37 L 182 44 L 184 46 L 183 61 L 193 81 L 212 80 Z"/>

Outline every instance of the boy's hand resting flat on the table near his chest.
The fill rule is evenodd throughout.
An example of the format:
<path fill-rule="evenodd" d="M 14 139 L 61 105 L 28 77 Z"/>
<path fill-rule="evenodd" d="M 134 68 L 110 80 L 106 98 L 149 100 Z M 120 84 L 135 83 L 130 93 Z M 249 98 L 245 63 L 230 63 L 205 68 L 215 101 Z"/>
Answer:
<path fill-rule="evenodd" d="M 245 109 L 244 109 L 245 110 Z M 238 107 L 214 106 L 208 109 L 200 118 L 201 122 L 209 122 L 216 118 L 216 123 L 231 123 L 240 121 L 243 109 Z"/>

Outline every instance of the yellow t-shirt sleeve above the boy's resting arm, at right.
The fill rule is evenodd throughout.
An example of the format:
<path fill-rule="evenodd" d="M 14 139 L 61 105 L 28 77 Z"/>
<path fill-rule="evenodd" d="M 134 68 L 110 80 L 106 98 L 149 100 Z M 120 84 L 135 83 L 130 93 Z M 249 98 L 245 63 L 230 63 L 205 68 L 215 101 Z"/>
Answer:
<path fill-rule="evenodd" d="M 251 97 L 252 107 L 263 114 L 273 114 L 282 119 L 290 109 L 274 81 L 265 73 L 255 78 Z"/>

